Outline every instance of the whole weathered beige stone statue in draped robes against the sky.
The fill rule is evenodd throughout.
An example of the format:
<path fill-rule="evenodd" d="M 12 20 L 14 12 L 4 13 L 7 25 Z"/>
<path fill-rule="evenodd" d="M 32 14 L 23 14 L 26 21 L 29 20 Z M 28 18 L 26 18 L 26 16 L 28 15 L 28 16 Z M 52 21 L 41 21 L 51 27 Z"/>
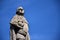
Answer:
<path fill-rule="evenodd" d="M 10 21 L 10 40 L 30 40 L 28 22 L 23 7 L 19 7 Z"/>

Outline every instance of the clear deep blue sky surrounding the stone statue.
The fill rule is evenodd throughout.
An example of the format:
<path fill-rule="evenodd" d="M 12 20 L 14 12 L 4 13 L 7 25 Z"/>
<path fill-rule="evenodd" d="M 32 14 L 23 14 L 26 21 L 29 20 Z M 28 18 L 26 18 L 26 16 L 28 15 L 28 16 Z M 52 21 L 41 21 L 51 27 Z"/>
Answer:
<path fill-rule="evenodd" d="M 10 40 L 9 22 L 23 6 L 31 40 L 60 40 L 59 0 L 0 0 L 0 40 Z"/>

